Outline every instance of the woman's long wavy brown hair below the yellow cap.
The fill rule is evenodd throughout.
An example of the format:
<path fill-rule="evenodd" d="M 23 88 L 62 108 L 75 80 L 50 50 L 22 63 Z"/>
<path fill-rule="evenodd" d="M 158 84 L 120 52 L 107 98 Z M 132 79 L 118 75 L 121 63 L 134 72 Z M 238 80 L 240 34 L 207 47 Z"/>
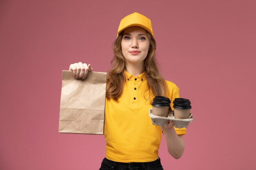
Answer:
<path fill-rule="evenodd" d="M 111 61 L 111 69 L 107 75 L 107 99 L 112 98 L 117 100 L 123 93 L 124 82 L 126 79 L 124 74 L 124 71 L 126 70 L 126 60 L 121 48 L 123 34 L 124 31 L 118 35 L 117 39 L 112 45 L 114 57 Z M 166 83 L 162 76 L 159 74 L 157 68 L 158 64 L 155 60 L 156 42 L 153 36 L 148 33 L 148 31 L 146 31 L 146 35 L 150 42 L 148 55 L 144 64 L 144 74 L 146 75 L 148 83 L 148 88 L 146 91 L 149 91 L 150 95 L 153 93 L 154 95 L 165 96 L 167 91 Z"/>

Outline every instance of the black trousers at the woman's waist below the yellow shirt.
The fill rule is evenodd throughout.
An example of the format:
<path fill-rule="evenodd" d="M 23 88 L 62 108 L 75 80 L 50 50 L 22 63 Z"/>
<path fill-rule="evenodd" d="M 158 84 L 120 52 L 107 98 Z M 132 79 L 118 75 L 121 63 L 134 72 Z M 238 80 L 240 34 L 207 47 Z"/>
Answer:
<path fill-rule="evenodd" d="M 164 170 L 160 158 L 152 162 L 122 163 L 104 158 L 99 170 Z"/>

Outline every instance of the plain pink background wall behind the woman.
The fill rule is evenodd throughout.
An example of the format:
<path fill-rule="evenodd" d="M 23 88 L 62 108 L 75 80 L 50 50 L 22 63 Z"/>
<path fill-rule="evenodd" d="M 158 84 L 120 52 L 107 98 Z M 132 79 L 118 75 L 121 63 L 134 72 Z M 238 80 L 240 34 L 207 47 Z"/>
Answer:
<path fill-rule="evenodd" d="M 255 169 L 254 0 L 1 0 L 0 169 L 97 170 L 103 135 L 58 133 L 61 71 L 74 62 L 106 72 L 119 21 L 153 22 L 165 79 L 192 102 L 181 159 L 165 170 Z"/>

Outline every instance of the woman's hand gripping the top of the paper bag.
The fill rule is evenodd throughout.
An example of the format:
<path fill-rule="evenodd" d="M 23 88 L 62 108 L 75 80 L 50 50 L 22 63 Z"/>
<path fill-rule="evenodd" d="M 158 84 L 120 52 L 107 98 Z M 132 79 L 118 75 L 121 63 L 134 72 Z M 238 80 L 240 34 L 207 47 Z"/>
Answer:
<path fill-rule="evenodd" d="M 92 66 L 90 64 L 86 64 L 86 63 L 74 63 L 74 64 L 70 64 L 70 71 L 73 71 L 73 75 L 76 79 L 82 78 L 84 79 L 89 71 L 92 71 Z"/>

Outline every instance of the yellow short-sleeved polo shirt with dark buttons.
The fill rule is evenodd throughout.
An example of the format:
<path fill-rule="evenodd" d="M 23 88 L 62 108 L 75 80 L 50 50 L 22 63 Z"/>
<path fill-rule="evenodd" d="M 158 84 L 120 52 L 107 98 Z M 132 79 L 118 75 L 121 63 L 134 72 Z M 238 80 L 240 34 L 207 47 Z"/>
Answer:
<path fill-rule="evenodd" d="M 128 72 L 124 91 L 116 101 L 106 99 L 104 136 L 106 158 L 117 162 L 149 162 L 158 158 L 162 130 L 153 125 L 148 115 L 152 108 L 147 100 L 147 80 L 144 73 L 135 77 Z M 166 81 L 168 94 L 173 101 L 179 97 L 179 88 Z M 145 99 L 145 97 L 146 99 Z M 173 104 L 171 104 L 173 109 Z M 176 129 L 178 135 L 186 134 L 186 129 Z"/>

